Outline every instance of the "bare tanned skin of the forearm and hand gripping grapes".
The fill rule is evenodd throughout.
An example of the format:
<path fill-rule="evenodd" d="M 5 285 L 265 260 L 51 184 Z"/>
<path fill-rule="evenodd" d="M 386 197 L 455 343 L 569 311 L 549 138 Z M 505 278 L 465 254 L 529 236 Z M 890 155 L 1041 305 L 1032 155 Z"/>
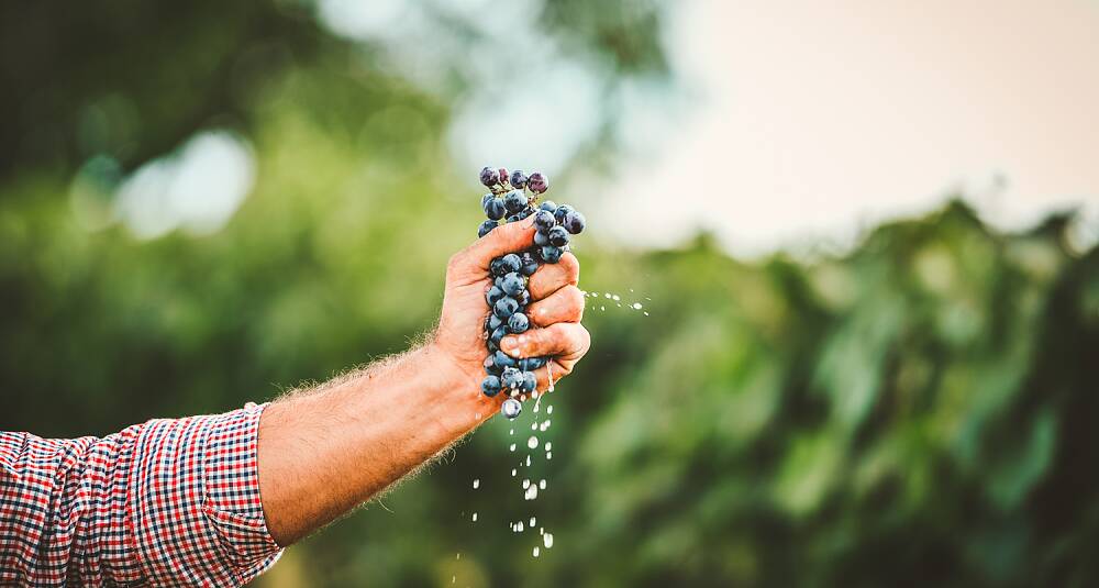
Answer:
<path fill-rule="evenodd" d="M 529 248 L 532 218 L 508 223 L 455 254 L 439 328 L 403 355 L 266 408 L 259 421 L 259 491 L 271 536 L 289 545 L 368 500 L 495 415 L 506 395 L 480 392 L 485 292 L 493 257 Z M 534 328 L 501 344 L 514 357 L 553 356 L 539 389 L 588 351 L 580 325 L 580 266 L 571 254 L 528 286 Z"/>

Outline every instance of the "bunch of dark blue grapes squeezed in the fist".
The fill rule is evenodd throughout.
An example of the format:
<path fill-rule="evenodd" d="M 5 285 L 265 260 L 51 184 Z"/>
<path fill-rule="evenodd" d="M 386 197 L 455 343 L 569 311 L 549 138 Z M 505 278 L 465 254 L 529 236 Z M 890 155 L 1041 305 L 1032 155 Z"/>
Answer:
<path fill-rule="evenodd" d="M 526 176 L 515 170 L 509 175 L 502 167 L 486 167 L 481 169 L 480 181 L 491 191 L 481 197 L 481 209 L 488 220 L 477 231 L 478 238 L 502 222 L 515 222 L 531 215 L 534 215 L 536 229 L 534 246 L 529 251 L 492 259 L 489 268 L 492 287 L 485 295 L 489 307 L 485 320 L 489 355 L 485 358 L 488 376 L 481 382 L 481 391 L 490 398 L 506 391 L 509 398 L 500 407 L 500 412 L 508 419 L 514 419 L 523 410 L 520 400 L 534 393 L 537 385 L 534 370 L 546 365 L 550 358 L 515 359 L 500 351 L 500 340 L 531 328 L 526 315 L 526 307 L 531 302 L 526 281 L 541 264 L 560 260 L 560 256 L 568 251 L 569 236 L 584 231 L 585 220 L 584 214 L 568 204 L 558 207 L 550 200 L 539 203 L 539 198 L 550 189 L 550 180 L 541 173 Z"/>

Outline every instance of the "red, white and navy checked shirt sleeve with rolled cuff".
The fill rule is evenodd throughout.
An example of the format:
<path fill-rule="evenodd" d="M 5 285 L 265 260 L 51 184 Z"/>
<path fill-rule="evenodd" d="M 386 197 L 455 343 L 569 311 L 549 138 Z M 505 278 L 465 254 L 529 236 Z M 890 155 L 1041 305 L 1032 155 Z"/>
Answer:
<path fill-rule="evenodd" d="M 0 432 L 0 585 L 241 586 L 281 555 L 264 520 L 264 406 L 103 439 Z"/>

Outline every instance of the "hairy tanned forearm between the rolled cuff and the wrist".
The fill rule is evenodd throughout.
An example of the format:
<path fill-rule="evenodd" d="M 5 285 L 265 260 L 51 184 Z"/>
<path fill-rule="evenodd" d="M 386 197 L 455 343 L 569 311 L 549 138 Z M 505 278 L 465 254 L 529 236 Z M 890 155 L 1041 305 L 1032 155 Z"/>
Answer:
<path fill-rule="evenodd" d="M 497 406 L 431 345 L 270 404 L 259 422 L 258 462 L 271 535 L 288 545 L 329 523 Z"/>

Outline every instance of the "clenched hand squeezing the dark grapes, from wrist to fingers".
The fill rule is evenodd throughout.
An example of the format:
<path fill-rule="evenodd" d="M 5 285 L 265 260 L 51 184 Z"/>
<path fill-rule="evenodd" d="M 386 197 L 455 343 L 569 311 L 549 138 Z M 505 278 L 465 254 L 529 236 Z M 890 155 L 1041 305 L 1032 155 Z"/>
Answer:
<path fill-rule="evenodd" d="M 446 293 L 443 312 L 432 346 L 459 374 L 459 382 L 479 390 L 485 378 L 485 319 L 488 302 L 485 295 L 492 286 L 489 264 L 508 253 L 519 253 L 534 244 L 533 218 L 511 222 L 451 257 L 446 268 Z M 576 287 L 580 264 L 570 253 L 557 264 L 545 264 L 531 276 L 528 290 L 531 304 L 526 314 L 532 326 L 520 335 L 508 335 L 501 348 L 512 357 L 552 356 L 550 370 L 554 381 L 573 371 L 591 344 L 588 331 L 580 324 L 584 315 L 584 292 Z M 536 370 L 539 390 L 545 390 L 548 370 Z M 504 395 L 493 399 L 502 402 Z"/>

